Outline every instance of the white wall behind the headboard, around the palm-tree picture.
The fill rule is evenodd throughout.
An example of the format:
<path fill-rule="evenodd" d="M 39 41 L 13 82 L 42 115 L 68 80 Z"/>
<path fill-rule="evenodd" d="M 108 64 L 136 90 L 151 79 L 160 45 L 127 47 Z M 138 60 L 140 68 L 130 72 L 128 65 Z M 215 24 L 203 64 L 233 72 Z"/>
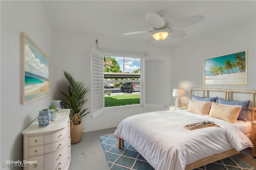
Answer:
<path fill-rule="evenodd" d="M 204 59 L 248 50 L 248 85 L 203 85 Z M 256 90 L 256 26 L 253 23 L 236 27 L 176 47 L 171 50 L 172 88 L 185 88 L 184 104 L 188 103 L 190 88 L 228 88 Z M 175 98 L 172 97 L 172 102 Z"/>

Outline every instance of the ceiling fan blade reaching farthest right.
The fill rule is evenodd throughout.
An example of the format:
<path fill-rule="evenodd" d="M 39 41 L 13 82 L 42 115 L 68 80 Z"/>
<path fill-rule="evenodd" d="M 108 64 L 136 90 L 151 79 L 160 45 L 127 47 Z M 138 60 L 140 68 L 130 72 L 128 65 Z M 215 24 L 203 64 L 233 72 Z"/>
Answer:
<path fill-rule="evenodd" d="M 194 25 L 202 20 L 204 20 L 204 16 L 189 16 L 174 20 L 169 25 L 174 26 L 174 29 L 181 29 L 190 25 Z"/>

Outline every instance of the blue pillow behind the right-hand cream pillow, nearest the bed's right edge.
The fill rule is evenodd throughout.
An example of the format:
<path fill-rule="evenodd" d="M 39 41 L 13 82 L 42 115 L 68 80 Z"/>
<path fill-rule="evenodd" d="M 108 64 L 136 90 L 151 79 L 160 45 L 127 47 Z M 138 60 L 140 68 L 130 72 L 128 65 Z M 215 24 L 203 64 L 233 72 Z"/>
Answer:
<path fill-rule="evenodd" d="M 242 109 L 238 115 L 238 120 L 242 120 L 242 121 L 247 121 L 247 107 L 250 104 L 250 100 L 245 100 L 245 101 L 236 101 L 236 100 L 225 100 L 222 98 L 218 98 L 218 103 L 219 104 L 226 104 L 226 105 L 239 105 L 242 106 Z"/>

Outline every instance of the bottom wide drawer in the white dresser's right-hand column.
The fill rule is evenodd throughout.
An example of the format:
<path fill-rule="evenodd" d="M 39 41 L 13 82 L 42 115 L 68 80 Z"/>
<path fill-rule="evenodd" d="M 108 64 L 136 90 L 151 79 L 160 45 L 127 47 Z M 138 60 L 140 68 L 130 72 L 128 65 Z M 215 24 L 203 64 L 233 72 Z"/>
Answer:
<path fill-rule="evenodd" d="M 64 170 L 66 167 L 66 147 L 44 155 L 45 170 Z"/>

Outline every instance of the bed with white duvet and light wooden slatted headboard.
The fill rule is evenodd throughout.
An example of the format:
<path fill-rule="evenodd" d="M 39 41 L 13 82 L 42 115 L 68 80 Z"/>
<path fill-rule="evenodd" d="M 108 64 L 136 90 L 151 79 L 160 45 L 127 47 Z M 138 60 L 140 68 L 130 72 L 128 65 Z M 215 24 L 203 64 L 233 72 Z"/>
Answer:
<path fill-rule="evenodd" d="M 209 114 L 191 112 L 192 104 L 188 105 L 187 110 L 142 113 L 126 118 L 118 125 L 114 133 L 118 139 L 118 147 L 121 148 L 124 146 L 124 140 L 127 141 L 153 168 L 158 170 L 194 169 L 253 147 L 250 141 L 250 121 L 255 120 L 255 90 L 193 88 L 190 90 L 190 99 L 198 91 L 202 92 L 202 98 L 204 96 L 210 98 L 209 95 L 214 92 L 212 95 L 218 94 L 225 100 L 232 101 L 236 98 L 236 94 L 239 94 L 239 99 L 241 94 L 249 94 L 250 104 L 246 113 L 248 121 L 238 120 L 230 123 L 210 117 L 219 106 L 230 110 L 239 109 L 238 106 L 227 106 L 217 102 L 211 102 Z M 240 110 L 241 108 L 242 106 Z M 184 128 L 185 125 L 202 121 L 212 121 L 220 127 L 195 130 Z"/>

